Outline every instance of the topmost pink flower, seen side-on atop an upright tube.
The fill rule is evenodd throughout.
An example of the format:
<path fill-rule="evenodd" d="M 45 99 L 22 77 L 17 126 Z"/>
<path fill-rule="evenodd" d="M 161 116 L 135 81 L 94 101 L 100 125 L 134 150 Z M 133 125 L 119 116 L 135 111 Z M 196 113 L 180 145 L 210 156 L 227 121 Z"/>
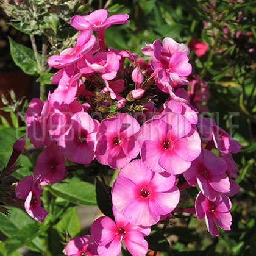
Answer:
<path fill-rule="evenodd" d="M 124 24 L 129 23 L 128 14 L 112 15 L 107 18 L 107 10 L 99 9 L 90 13 L 89 15 L 80 16 L 75 15 L 71 18 L 70 24 L 77 30 L 89 30 L 93 31 L 103 30 L 110 27 L 112 24 Z"/>

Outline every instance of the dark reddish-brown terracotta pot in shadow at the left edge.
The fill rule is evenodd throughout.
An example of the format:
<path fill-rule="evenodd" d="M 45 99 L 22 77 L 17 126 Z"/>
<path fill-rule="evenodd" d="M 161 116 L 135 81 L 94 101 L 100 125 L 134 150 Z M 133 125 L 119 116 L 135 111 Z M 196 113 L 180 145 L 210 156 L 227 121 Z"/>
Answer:
<path fill-rule="evenodd" d="M 29 98 L 32 92 L 33 82 L 34 77 L 25 74 L 21 70 L 0 73 L 0 94 L 3 93 L 6 96 L 8 94 L 8 91 L 10 91 L 10 89 L 13 89 L 13 91 L 15 91 L 17 99 L 20 99 L 23 96 Z M 0 107 L 3 107 L 1 100 Z M 8 112 L 0 110 L 0 114 L 3 115 L 10 124 L 12 123 L 10 121 L 10 114 Z"/>

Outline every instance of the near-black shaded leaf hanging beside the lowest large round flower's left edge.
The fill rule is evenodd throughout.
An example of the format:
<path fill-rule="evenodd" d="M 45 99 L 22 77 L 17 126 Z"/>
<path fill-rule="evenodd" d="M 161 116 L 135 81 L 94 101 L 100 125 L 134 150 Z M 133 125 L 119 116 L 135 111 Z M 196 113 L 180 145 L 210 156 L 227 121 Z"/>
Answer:
<path fill-rule="evenodd" d="M 113 204 L 111 200 L 111 187 L 104 187 L 98 178 L 96 178 L 96 198 L 101 212 L 114 220 L 115 217 L 112 211 Z"/>

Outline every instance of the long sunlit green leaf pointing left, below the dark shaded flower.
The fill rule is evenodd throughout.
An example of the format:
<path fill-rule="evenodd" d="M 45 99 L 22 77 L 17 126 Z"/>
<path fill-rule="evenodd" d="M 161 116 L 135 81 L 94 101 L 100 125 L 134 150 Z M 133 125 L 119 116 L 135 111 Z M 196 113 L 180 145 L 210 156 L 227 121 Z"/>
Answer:
<path fill-rule="evenodd" d="M 48 187 L 54 196 L 59 196 L 73 204 L 97 205 L 95 186 L 80 180 L 65 179 Z"/>

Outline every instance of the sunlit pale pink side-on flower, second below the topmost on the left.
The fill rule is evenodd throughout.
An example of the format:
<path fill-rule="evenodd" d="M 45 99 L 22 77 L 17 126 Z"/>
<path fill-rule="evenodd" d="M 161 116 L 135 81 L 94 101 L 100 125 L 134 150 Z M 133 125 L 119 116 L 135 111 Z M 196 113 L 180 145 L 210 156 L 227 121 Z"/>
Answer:
<path fill-rule="evenodd" d="M 81 74 L 77 73 L 76 66 L 69 65 L 63 70 L 58 88 L 49 96 L 49 102 L 54 108 L 63 108 L 71 104 L 76 97 L 78 82 Z"/>

